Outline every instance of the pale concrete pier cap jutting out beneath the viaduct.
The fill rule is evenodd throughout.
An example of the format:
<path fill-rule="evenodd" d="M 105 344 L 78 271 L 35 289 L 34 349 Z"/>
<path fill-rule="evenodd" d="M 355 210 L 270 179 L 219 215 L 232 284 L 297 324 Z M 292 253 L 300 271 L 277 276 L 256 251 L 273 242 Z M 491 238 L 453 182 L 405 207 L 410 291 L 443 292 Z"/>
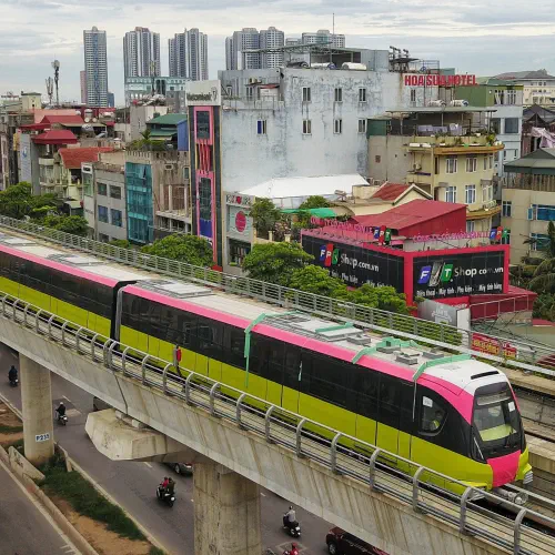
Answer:
<path fill-rule="evenodd" d="M 90 413 L 84 430 L 100 453 L 111 461 L 209 463 L 210 460 L 155 430 L 140 426 L 114 408 Z"/>

